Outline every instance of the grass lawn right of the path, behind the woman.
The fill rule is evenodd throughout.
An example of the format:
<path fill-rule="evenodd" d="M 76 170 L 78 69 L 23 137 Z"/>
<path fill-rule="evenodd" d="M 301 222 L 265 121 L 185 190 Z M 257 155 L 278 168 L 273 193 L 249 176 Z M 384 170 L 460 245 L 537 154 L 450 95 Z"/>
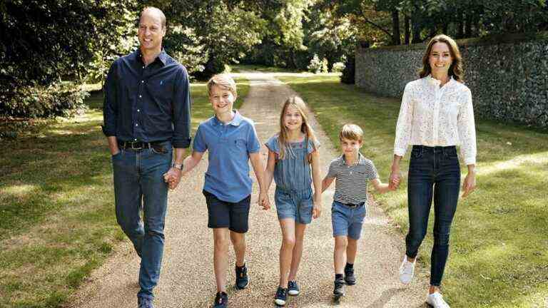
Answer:
<path fill-rule="evenodd" d="M 305 98 L 336 145 L 342 123 L 360 125 L 362 153 L 387 183 L 399 99 L 373 96 L 336 76 L 277 78 Z M 478 187 L 457 207 L 443 291 L 451 307 L 548 307 L 548 134 L 476 122 Z M 400 190 L 376 196 L 402 233 L 408 227 L 408 158 Z M 421 272 L 430 272 L 432 226 L 433 215 L 419 253 Z"/>

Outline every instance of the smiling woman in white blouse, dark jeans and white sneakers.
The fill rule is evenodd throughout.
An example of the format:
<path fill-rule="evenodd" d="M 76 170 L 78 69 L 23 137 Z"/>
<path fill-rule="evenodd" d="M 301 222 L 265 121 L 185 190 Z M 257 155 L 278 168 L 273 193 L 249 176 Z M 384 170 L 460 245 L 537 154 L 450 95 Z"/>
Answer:
<path fill-rule="evenodd" d="M 407 145 L 413 145 L 407 186 L 409 233 L 405 238 L 406 252 L 400 266 L 400 280 L 404 284 L 411 282 L 433 199 L 434 247 L 427 303 L 435 308 L 449 307 L 440 294 L 440 284 L 460 190 L 460 165 L 455 145 L 460 145 L 468 167 L 462 197 L 475 188 L 474 109 L 470 89 L 463 84 L 462 74 L 462 58 L 457 43 L 445 35 L 430 40 L 422 57 L 420 79 L 405 86 L 390 174 L 391 185 L 397 186 L 400 160 Z"/>

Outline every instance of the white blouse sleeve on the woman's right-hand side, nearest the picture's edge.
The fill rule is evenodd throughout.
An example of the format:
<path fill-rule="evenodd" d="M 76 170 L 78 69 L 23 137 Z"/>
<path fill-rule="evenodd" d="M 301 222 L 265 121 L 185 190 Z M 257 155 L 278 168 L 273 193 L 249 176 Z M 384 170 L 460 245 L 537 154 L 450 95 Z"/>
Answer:
<path fill-rule="evenodd" d="M 465 102 L 460 106 L 457 121 L 461 155 L 465 159 L 466 165 L 475 165 L 477 153 L 476 123 L 470 89 L 467 89 Z"/>

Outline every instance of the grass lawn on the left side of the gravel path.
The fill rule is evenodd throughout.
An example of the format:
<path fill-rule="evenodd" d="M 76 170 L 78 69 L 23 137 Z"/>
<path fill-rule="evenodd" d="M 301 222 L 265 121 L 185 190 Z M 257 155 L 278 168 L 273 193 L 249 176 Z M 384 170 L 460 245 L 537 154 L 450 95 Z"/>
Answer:
<path fill-rule="evenodd" d="M 249 90 L 237 82 L 235 108 Z M 206 91 L 192 85 L 193 130 L 213 114 Z M 114 215 L 102 99 L 93 93 L 82 116 L 39 121 L 2 141 L 0 308 L 61 307 L 126 240 Z"/>

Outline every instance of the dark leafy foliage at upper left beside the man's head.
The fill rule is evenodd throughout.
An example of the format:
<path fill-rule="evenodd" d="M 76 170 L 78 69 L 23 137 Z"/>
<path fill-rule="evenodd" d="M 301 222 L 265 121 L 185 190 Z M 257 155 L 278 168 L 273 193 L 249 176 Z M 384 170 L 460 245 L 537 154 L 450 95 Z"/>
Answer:
<path fill-rule="evenodd" d="M 0 36 L 9 39 L 0 41 L 0 115 L 77 111 L 85 93 L 76 83 L 100 81 L 110 61 L 135 46 L 135 9 L 136 0 L 3 1 Z"/>

